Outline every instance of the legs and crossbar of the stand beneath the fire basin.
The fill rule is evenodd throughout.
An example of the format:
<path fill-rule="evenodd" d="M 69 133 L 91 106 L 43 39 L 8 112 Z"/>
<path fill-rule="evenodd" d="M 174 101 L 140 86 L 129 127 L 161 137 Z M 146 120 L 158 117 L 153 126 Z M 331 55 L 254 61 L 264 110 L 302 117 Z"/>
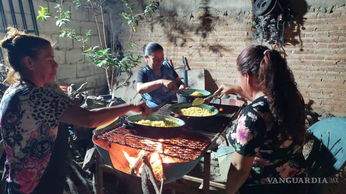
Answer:
<path fill-rule="evenodd" d="M 118 175 L 115 170 L 103 164 L 102 157 L 96 152 L 96 192 L 97 194 L 103 194 L 103 172 Z M 179 191 L 187 194 L 209 194 L 209 186 L 226 189 L 226 185 L 210 181 L 210 153 L 204 153 L 204 165 L 203 165 L 203 179 L 185 175 L 182 177 L 185 180 L 201 183 L 199 188 L 187 186 L 180 183 L 167 183 L 164 184 L 164 188 L 172 189 L 173 193 Z"/>

